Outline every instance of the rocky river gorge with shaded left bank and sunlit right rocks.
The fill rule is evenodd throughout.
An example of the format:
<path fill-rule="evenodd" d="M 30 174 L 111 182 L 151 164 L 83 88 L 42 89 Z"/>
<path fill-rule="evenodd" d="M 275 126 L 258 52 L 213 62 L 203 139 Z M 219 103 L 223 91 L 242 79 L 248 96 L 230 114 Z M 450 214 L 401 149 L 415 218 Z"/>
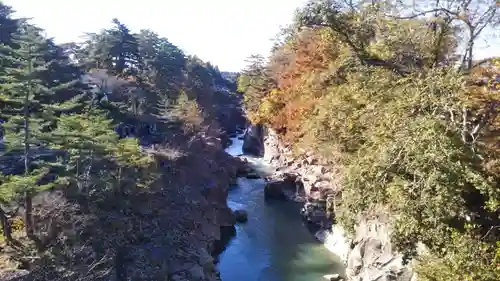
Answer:
<path fill-rule="evenodd" d="M 344 276 L 340 276 L 338 271 L 329 271 L 335 267 L 332 266 L 331 258 L 318 254 L 318 250 L 311 250 L 311 246 L 307 246 L 309 250 L 294 260 L 296 250 L 293 247 L 300 246 L 304 242 L 302 239 L 307 237 L 306 232 L 312 231 L 326 249 L 345 263 L 347 280 L 412 280 L 411 271 L 402 265 L 402 257 L 392 251 L 389 230 L 383 218 L 360 220 L 354 238 L 348 237 L 341 227 L 333 224 L 339 190 L 335 188 L 334 172 L 327 164 L 310 153 L 293 157 L 291 149 L 272 130 L 247 130 L 243 143 L 250 136 L 262 138 L 252 145 L 243 145 L 242 150 L 250 148 L 250 154 L 262 156 L 258 159 L 268 164 L 270 172 L 256 173 L 251 160 L 242 161 L 244 158 L 226 153 L 224 148 L 230 143 L 225 141 L 226 136 L 197 136 L 179 141 L 176 153 L 168 146 L 157 147 L 151 152 L 164 171 L 162 185 L 131 196 L 133 200 L 124 202 L 127 206 L 122 206 L 120 212 L 113 211 L 112 206 L 108 205 L 90 206 L 91 211 L 82 214 L 81 206 L 70 208 L 68 206 L 72 203 L 69 201 L 64 206 L 54 206 L 55 209 L 64 208 L 66 212 L 72 210 L 79 221 L 88 222 L 88 227 L 79 231 L 84 231 L 87 233 L 84 237 L 90 238 L 75 240 L 80 246 L 64 250 L 85 249 L 98 253 L 93 249 L 95 245 L 103 242 L 107 245 L 105 255 L 99 258 L 102 264 L 98 270 L 90 274 L 74 273 L 75 276 L 94 280 L 108 276 L 113 280 L 288 281 L 310 280 L 307 276 L 319 275 L 326 280 L 341 280 Z M 197 171 L 196 177 L 190 176 L 193 170 Z M 245 182 L 237 180 L 239 177 Z M 235 184 L 238 186 L 235 187 Z M 246 186 L 248 184 L 251 186 Z M 235 201 L 234 198 L 228 198 L 233 192 L 231 187 L 242 190 L 242 193 L 237 194 L 242 196 L 240 202 L 246 204 L 244 210 L 252 208 L 252 204 L 258 204 L 257 207 L 247 212 L 231 206 Z M 261 191 L 262 197 L 259 195 Z M 48 197 L 53 197 L 53 194 Z M 300 217 L 298 208 L 272 202 L 259 203 L 262 199 L 303 204 L 301 213 L 308 230 L 296 220 L 296 217 Z M 261 214 L 257 210 L 262 211 L 262 208 L 267 211 Z M 57 210 L 54 212 L 57 213 Z M 268 217 L 262 217 L 264 215 Z M 239 230 L 246 232 L 238 234 L 243 242 L 231 242 L 238 228 L 235 225 L 247 220 L 251 220 L 247 229 Z M 269 237 L 276 231 L 273 225 L 285 232 Z M 254 233 L 255 228 L 259 229 L 258 234 Z M 61 237 L 69 237 L 71 231 L 73 229 L 66 229 Z M 294 235 L 290 235 L 289 231 L 294 231 Z M 278 239 L 279 242 L 275 241 L 274 246 L 266 244 L 270 238 Z M 227 249 L 228 243 L 236 246 L 230 245 Z M 241 244 L 245 246 L 241 248 Z M 288 248 L 292 251 L 284 251 Z M 266 263 L 263 265 L 265 269 L 260 272 L 258 263 L 267 255 L 276 256 L 280 262 Z M 60 255 L 59 259 L 63 262 L 66 257 Z M 222 264 L 219 264 L 221 257 Z M 228 260 L 242 260 L 249 267 L 237 268 Z M 313 260 L 313 264 L 302 265 L 307 260 Z M 300 264 L 289 265 L 290 261 Z M 82 264 L 69 263 L 66 264 L 69 268 Z M 320 267 L 321 274 L 314 272 Z M 229 274 L 228 268 L 236 272 Z M 275 270 L 288 275 L 277 276 L 273 273 Z M 8 280 L 47 280 L 48 276 L 53 280 L 70 280 L 44 266 Z M 314 277 L 314 280 L 320 279 Z"/>

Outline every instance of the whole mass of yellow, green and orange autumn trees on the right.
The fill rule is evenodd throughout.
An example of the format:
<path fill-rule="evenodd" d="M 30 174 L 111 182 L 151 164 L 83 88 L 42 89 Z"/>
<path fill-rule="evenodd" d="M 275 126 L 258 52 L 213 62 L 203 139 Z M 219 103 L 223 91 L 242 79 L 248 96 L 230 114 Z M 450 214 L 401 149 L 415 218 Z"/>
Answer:
<path fill-rule="evenodd" d="M 458 68 L 445 18 L 332 2 L 311 1 L 251 61 L 239 81 L 251 121 L 337 166 L 348 229 L 389 212 L 422 280 L 500 280 L 500 64 Z"/>

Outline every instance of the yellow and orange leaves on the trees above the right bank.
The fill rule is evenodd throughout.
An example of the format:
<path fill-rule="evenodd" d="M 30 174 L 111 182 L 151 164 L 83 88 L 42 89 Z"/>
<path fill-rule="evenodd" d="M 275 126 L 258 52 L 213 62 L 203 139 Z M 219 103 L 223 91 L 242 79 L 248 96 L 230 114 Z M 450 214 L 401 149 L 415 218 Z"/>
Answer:
<path fill-rule="evenodd" d="M 357 21 L 349 22 L 353 28 L 366 27 L 359 15 L 353 21 Z M 468 211 L 471 202 L 462 196 L 465 187 L 485 197 L 497 194 L 494 180 L 500 171 L 495 171 L 498 162 L 492 159 L 500 159 L 500 120 L 491 120 L 475 144 L 474 153 L 484 159 L 479 160 L 469 145 L 460 141 L 459 119 L 461 107 L 467 102 L 473 113 L 467 121 L 473 127 L 482 120 L 485 105 L 500 100 L 495 82 L 499 71 L 477 69 L 470 80 L 487 81 L 461 87 L 463 78 L 455 71 L 431 67 L 435 38 L 427 23 L 383 19 L 367 24 L 375 29 L 373 38 L 369 29 L 357 30 L 359 33 L 350 38 L 358 40 L 356 36 L 369 33 L 366 37 L 371 40 L 363 42 L 363 51 L 414 70 L 405 78 L 385 68 L 360 65 L 353 59 L 352 50 L 348 52 L 334 42 L 334 34 L 325 29 L 297 34 L 294 48 L 271 60 L 270 76 L 277 85 L 259 92 L 263 95 L 254 100 L 259 104 L 257 110 L 249 116 L 252 122 L 286 129 L 286 141 L 327 151 L 327 157 L 335 156 L 328 160 L 338 160 L 337 165 L 343 166 L 339 178 L 346 194 L 342 198 L 347 214 L 344 223 L 353 223 L 347 217 L 371 211 L 374 202 L 390 204 L 396 217 L 411 222 L 403 222 L 396 235 L 403 247 L 411 248 L 408 243 L 421 239 L 441 255 L 463 246 L 463 241 L 443 240 L 449 238 L 449 229 L 441 222 Z M 451 33 L 443 39 L 439 47 L 444 54 L 438 61 L 452 53 L 454 40 Z M 498 66 L 499 62 L 494 64 Z M 341 79 L 332 82 L 338 77 Z M 481 210 L 498 206 L 480 204 L 477 207 Z M 477 233 L 457 235 L 462 239 L 469 234 Z M 442 251 L 442 245 L 446 245 L 446 251 Z M 481 255 L 472 248 L 467 251 L 456 263 L 434 264 L 438 271 L 450 271 L 434 280 L 455 280 L 465 276 L 461 268 L 477 270 L 484 265 L 477 261 L 478 267 L 468 264 L 469 258 Z M 453 261 L 452 255 L 448 257 Z"/>

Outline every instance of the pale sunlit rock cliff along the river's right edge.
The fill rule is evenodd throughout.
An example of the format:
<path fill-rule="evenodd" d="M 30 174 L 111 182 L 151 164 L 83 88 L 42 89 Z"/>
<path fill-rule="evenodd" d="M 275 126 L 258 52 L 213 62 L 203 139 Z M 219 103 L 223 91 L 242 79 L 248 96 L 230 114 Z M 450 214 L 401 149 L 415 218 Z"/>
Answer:
<path fill-rule="evenodd" d="M 264 161 L 276 167 L 277 174 L 294 174 L 302 183 L 306 197 L 302 199 L 305 201 L 302 213 L 310 223 L 317 225 L 316 237 L 346 263 L 348 280 L 416 280 L 411 269 L 403 265 L 402 256 L 393 250 L 386 217 L 358 217 L 352 236 L 340 225 L 331 224 L 342 189 L 333 165 L 307 152 L 293 157 L 291 148 L 270 129 L 264 150 Z"/>

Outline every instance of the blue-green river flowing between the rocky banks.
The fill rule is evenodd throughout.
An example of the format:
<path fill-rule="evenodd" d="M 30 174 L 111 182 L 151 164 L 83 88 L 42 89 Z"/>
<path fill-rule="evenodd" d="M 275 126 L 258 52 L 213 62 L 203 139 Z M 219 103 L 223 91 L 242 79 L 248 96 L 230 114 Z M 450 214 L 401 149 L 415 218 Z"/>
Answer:
<path fill-rule="evenodd" d="M 226 150 L 240 155 L 242 140 Z M 261 173 L 270 172 L 258 158 L 248 158 Z M 264 180 L 238 179 L 228 196 L 232 209 L 248 212 L 248 222 L 236 226 L 236 236 L 220 255 L 223 281 L 315 281 L 343 275 L 344 266 L 305 227 L 294 202 L 265 202 Z"/>

